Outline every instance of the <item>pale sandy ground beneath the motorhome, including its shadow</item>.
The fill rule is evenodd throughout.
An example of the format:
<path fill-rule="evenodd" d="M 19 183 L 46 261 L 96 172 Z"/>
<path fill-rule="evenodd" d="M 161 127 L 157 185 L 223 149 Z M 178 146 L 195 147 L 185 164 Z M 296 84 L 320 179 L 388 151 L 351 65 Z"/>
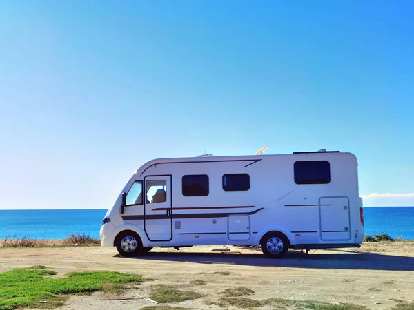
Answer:
<path fill-rule="evenodd" d="M 86 270 L 139 273 L 155 280 L 126 291 L 124 297 L 149 296 L 150 286 L 163 283 L 204 293 L 204 298 L 177 304 L 192 309 L 223 309 L 204 302 L 218 300 L 224 289 L 237 286 L 253 289 L 255 294 L 249 298 L 255 300 L 348 302 L 369 309 L 389 309 L 395 305 L 390 300 L 393 298 L 414 300 L 414 242 L 366 243 L 361 249 L 310 251 L 308 256 L 289 251 L 282 260 L 232 246 L 180 251 L 155 248 L 141 258 L 122 258 L 115 248 L 102 247 L 0 249 L 0 272 L 32 265 L 45 265 L 61 276 Z M 216 271 L 229 271 L 230 275 L 211 274 Z M 190 285 L 196 279 L 207 284 Z M 139 309 L 153 305 L 141 299 L 104 300 L 111 297 L 101 292 L 72 296 L 60 309 Z"/>

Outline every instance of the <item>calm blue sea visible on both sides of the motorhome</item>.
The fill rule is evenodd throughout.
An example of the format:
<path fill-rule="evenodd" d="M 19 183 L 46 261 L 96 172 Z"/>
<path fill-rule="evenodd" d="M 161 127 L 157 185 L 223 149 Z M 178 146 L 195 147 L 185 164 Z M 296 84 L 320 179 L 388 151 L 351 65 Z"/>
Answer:
<path fill-rule="evenodd" d="M 64 239 L 68 234 L 99 238 L 106 209 L 0 210 L 0 238 Z M 386 233 L 414 240 L 414 207 L 364 207 L 365 234 Z"/>

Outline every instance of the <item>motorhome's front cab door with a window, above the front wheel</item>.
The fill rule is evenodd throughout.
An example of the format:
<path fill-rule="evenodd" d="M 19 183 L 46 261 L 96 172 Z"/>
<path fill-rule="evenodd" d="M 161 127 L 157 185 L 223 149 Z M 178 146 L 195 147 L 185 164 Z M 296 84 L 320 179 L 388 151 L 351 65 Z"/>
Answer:
<path fill-rule="evenodd" d="M 171 176 L 144 178 L 144 231 L 150 241 L 172 240 Z"/>

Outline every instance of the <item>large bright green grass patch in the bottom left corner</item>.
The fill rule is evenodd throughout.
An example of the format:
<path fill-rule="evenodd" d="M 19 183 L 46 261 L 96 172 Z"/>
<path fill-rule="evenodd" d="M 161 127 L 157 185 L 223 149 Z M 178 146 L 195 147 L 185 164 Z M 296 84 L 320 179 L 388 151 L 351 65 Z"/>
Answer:
<path fill-rule="evenodd" d="M 0 273 L 0 310 L 18 307 L 52 309 L 63 304 L 66 298 L 61 295 L 101 291 L 108 284 L 122 286 L 143 282 L 141 276 L 112 271 L 72 272 L 66 278 L 48 277 L 55 274 L 52 270 L 32 268 Z"/>

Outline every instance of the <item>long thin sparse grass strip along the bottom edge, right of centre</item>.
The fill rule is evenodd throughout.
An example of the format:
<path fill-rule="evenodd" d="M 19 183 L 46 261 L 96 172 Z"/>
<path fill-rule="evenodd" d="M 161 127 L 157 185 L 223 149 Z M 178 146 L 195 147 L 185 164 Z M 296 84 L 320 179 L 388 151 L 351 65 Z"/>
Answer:
<path fill-rule="evenodd" d="M 357 304 L 337 303 L 328 304 L 326 302 L 317 302 L 315 300 L 288 300 L 282 298 L 269 298 L 266 300 L 254 300 L 246 297 L 219 298 L 218 302 L 207 301 L 208 305 L 217 305 L 220 307 L 237 307 L 239 309 L 257 308 L 257 307 L 275 307 L 280 310 L 287 310 L 288 308 L 295 307 L 295 309 L 312 309 L 312 310 L 368 310 L 364 306 Z M 398 309 L 400 310 L 400 309 Z M 401 309 L 406 310 L 406 309 Z"/>

